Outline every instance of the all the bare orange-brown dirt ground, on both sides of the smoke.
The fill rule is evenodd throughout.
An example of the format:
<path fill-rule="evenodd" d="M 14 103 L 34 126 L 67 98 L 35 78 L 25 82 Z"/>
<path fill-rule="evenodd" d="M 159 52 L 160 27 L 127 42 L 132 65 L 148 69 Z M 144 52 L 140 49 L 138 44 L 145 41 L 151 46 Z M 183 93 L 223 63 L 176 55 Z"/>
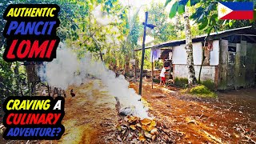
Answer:
<path fill-rule="evenodd" d="M 118 143 L 116 101 L 100 80 L 66 90 L 66 130 L 60 140 L 23 143 Z M 130 83 L 138 90 L 138 83 Z M 73 89 L 76 96 L 71 98 Z M 137 91 L 138 92 L 138 91 Z M 256 141 L 256 89 L 219 93 L 217 99 L 184 96 L 178 88 L 143 82 L 142 98 L 150 104 L 150 116 L 180 135 L 177 143 L 254 143 Z M 0 143 L 21 143 L 4 141 Z"/>

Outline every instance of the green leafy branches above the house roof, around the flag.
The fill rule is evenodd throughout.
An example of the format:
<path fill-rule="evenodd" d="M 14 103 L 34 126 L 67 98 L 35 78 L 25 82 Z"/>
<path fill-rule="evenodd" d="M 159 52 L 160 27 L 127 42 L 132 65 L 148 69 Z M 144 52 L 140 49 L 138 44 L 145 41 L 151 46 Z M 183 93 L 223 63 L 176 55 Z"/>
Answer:
<path fill-rule="evenodd" d="M 173 2 L 172 0 L 166 0 L 166 6 Z M 222 1 L 230 2 L 230 0 Z M 238 28 L 242 26 L 255 26 L 256 19 L 256 1 L 255 0 L 233 0 L 233 2 L 254 2 L 254 20 L 219 20 L 218 19 L 218 1 L 208 0 L 178 0 L 173 2 L 170 9 L 170 18 L 178 14 L 183 14 L 185 6 L 192 7 L 190 18 L 194 22 L 198 23 L 198 30 L 204 30 L 206 33 L 219 30 L 227 30 L 230 28 Z"/>

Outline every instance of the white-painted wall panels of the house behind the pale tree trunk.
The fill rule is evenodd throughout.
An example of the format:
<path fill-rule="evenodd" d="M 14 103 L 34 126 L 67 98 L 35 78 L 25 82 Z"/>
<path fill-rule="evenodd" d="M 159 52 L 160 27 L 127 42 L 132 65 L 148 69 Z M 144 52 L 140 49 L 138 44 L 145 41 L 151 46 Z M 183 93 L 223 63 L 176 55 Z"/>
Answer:
<path fill-rule="evenodd" d="M 186 67 L 186 45 L 173 47 L 174 78 L 187 78 Z M 193 43 L 194 70 L 196 78 L 199 76 L 202 63 L 202 42 Z M 219 41 L 213 42 L 213 50 L 210 51 L 210 66 L 202 66 L 201 80 L 212 80 L 215 82 L 215 70 L 219 63 Z"/>

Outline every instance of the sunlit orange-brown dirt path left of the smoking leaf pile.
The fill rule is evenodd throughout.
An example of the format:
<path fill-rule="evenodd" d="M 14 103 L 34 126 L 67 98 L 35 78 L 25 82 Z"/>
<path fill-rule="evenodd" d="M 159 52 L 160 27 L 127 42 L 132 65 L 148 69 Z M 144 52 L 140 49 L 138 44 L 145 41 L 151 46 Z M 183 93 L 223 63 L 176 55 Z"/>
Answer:
<path fill-rule="evenodd" d="M 76 96 L 67 95 L 65 117 L 62 124 L 65 133 L 54 143 L 105 143 L 113 138 L 117 119 L 115 99 L 104 91 L 99 80 L 91 80 L 82 86 L 70 86 Z M 108 139 L 109 138 L 109 139 Z"/>

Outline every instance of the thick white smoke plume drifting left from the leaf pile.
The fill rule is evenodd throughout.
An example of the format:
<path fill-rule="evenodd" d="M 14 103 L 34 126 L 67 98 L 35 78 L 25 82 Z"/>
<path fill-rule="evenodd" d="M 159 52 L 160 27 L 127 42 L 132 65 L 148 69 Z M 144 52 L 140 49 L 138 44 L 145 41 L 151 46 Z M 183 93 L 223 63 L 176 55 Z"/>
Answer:
<path fill-rule="evenodd" d="M 94 61 L 91 54 L 78 60 L 77 55 L 70 49 L 62 48 L 57 50 L 57 58 L 46 63 L 46 70 L 40 70 L 39 76 L 46 78 L 50 86 L 55 86 L 66 90 L 70 85 L 81 85 L 86 81 L 86 76 L 100 78 L 102 84 L 106 86 L 110 95 L 117 97 L 121 107 L 131 107 L 132 114 L 140 118 L 148 118 L 147 108 L 139 101 L 140 95 L 134 89 L 128 88 L 130 85 L 123 75 L 116 78 L 112 70 L 107 70 L 104 62 Z M 100 86 L 94 84 L 94 89 Z"/>

